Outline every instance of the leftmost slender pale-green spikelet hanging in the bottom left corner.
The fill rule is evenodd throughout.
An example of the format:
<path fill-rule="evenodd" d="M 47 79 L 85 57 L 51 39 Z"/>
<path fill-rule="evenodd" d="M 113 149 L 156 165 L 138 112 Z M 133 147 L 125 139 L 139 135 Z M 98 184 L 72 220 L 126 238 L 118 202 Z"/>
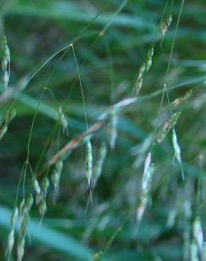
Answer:
<path fill-rule="evenodd" d="M 15 210 L 11 214 L 11 219 L 10 219 L 10 232 L 8 234 L 8 246 L 7 246 L 7 250 L 6 250 L 6 254 L 8 254 L 8 260 L 10 260 L 11 252 L 13 250 L 13 245 L 15 242 L 14 230 L 15 230 L 15 224 L 16 224 L 17 217 L 18 217 L 18 207 L 15 208 Z"/>

